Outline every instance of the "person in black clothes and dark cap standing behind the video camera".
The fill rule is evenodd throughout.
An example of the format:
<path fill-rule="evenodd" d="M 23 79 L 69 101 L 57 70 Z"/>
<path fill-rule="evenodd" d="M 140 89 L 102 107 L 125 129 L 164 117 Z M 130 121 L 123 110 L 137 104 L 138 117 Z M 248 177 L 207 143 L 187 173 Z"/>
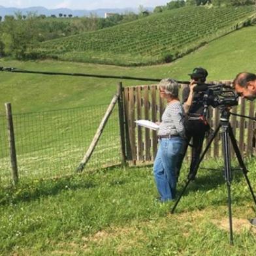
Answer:
<path fill-rule="evenodd" d="M 185 135 L 187 139 L 184 147 L 184 153 L 176 168 L 177 180 L 180 174 L 182 161 L 185 157 L 185 152 L 187 151 L 187 146 L 189 145 L 189 141 L 191 140 L 191 138 L 193 140 L 192 157 L 187 178 L 191 180 L 195 179 L 195 176 L 197 174 L 197 170 L 195 170 L 195 167 L 199 162 L 200 153 L 202 152 L 204 135 L 206 131 L 210 129 L 206 121 L 207 111 L 204 108 L 203 104 L 204 92 L 201 91 L 194 93 L 195 86 L 204 84 L 204 82 L 206 81 L 206 76 L 208 76 L 208 72 L 202 67 L 196 67 L 195 69 L 193 69 L 193 72 L 189 74 L 189 76 L 191 77 L 189 87 L 184 88 L 182 92 L 183 106 L 185 114 L 187 114 L 187 118 L 185 119 Z"/>

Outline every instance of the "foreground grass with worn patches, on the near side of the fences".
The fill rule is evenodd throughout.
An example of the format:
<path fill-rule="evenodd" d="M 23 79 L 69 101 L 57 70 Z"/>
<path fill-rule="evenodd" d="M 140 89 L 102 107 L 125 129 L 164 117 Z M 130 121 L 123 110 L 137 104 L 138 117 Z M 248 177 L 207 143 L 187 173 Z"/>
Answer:
<path fill-rule="evenodd" d="M 255 161 L 248 164 L 255 187 Z M 241 173 L 231 187 L 234 246 L 221 171 L 200 170 L 174 215 L 173 202 L 155 200 L 152 167 L 20 184 L 0 190 L 1 255 L 254 255 L 255 206 Z"/>

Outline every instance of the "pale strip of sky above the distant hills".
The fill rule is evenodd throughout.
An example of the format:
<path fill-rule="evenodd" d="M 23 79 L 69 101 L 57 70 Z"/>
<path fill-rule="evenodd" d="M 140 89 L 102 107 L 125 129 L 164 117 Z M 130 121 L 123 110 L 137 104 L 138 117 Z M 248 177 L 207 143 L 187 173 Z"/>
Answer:
<path fill-rule="evenodd" d="M 70 8 L 71 10 L 93 10 L 97 8 L 156 7 L 166 5 L 170 0 L 0 0 L 3 7 L 45 7 L 48 9 Z"/>

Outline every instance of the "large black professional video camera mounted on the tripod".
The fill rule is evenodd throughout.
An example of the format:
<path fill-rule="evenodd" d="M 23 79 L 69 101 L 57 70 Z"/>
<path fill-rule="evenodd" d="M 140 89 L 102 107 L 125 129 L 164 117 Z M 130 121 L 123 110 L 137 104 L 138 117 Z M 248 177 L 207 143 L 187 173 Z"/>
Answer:
<path fill-rule="evenodd" d="M 194 88 L 195 92 L 202 92 L 204 106 L 236 106 L 238 105 L 238 95 L 234 89 L 227 84 L 198 84 Z"/>

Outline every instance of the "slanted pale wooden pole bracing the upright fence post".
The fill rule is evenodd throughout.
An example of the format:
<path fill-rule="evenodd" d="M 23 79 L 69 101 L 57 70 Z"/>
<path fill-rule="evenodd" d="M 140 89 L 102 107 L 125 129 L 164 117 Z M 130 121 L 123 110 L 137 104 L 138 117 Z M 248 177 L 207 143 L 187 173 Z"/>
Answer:
<path fill-rule="evenodd" d="M 82 159 L 78 168 L 76 168 L 76 172 L 82 172 L 82 170 L 84 170 L 84 167 L 86 166 L 86 163 L 88 163 L 89 158 L 91 157 L 91 154 L 95 150 L 95 147 L 99 141 L 99 138 L 101 137 L 101 134 L 103 133 L 106 122 L 108 121 L 108 118 L 110 117 L 110 114 L 112 113 L 112 110 L 114 109 L 114 106 L 116 105 L 116 102 L 118 101 L 118 97 L 119 97 L 118 94 L 114 95 L 111 103 L 108 106 L 108 109 L 106 110 L 106 113 L 104 114 L 103 120 L 101 120 L 101 123 L 93 137 L 93 140 L 92 140 L 86 154 L 84 155 L 84 158 Z"/>

